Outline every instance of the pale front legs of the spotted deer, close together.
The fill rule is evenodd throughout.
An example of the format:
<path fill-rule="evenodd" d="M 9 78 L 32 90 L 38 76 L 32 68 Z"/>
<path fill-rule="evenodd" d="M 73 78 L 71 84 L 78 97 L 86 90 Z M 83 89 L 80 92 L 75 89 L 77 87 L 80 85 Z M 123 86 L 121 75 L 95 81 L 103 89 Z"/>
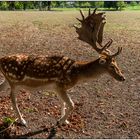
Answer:
<path fill-rule="evenodd" d="M 74 108 L 74 103 L 71 100 L 71 98 L 68 96 L 66 91 L 60 90 L 58 92 L 58 95 L 59 95 L 61 101 L 63 102 L 63 106 L 62 106 L 62 110 L 61 110 L 62 114 L 61 114 L 61 118 L 58 120 L 58 123 L 59 124 L 64 124 L 64 123 L 68 124 L 69 122 L 67 121 L 67 118 Z M 67 109 L 66 109 L 66 106 L 67 106 Z"/>

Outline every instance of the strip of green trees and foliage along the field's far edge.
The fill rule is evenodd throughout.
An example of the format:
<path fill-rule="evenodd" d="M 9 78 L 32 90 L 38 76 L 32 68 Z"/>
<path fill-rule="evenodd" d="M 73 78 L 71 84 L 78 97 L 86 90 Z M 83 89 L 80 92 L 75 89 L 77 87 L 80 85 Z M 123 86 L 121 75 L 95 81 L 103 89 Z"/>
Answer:
<path fill-rule="evenodd" d="M 139 1 L 1 1 L 0 10 L 52 10 L 53 8 L 102 8 L 123 10 L 139 6 Z M 130 8 L 128 8 L 130 9 Z"/>

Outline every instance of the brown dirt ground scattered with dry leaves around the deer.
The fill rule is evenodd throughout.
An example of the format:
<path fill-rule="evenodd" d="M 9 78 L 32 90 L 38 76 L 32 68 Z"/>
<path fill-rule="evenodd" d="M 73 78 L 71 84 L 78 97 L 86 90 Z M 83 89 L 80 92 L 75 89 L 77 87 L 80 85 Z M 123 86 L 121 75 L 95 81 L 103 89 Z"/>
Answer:
<path fill-rule="evenodd" d="M 104 43 L 113 39 L 112 51 L 123 47 L 116 58 L 126 81 L 109 75 L 78 84 L 68 91 L 75 103 L 70 125 L 54 127 L 60 102 L 47 89 L 19 89 L 18 105 L 28 128 L 14 124 L 7 138 L 140 138 L 140 14 L 106 12 Z M 93 60 L 98 54 L 77 39 L 73 24 L 78 11 L 0 12 L 0 57 L 23 53 L 65 55 L 74 60 Z M 2 76 L 0 77 L 2 80 Z M 0 126 L 5 117 L 16 118 L 9 86 L 0 91 Z M 30 95 L 30 99 L 28 98 Z M 0 133 L 0 137 L 6 138 Z"/>

